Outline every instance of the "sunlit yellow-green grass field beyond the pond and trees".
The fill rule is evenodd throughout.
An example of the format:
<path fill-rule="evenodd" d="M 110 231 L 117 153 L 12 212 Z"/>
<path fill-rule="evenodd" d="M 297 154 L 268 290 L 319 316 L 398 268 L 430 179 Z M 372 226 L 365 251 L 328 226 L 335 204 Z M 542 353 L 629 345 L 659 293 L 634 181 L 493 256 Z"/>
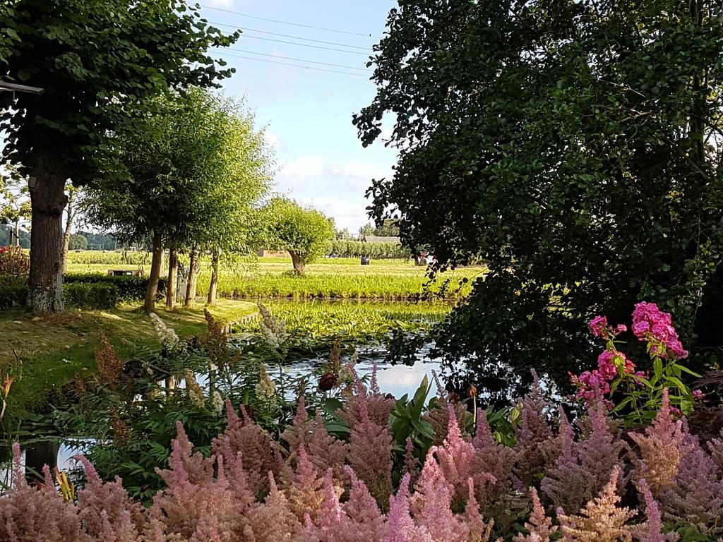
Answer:
<path fill-rule="evenodd" d="M 90 263 L 93 254 L 69 254 L 69 272 L 105 273 L 113 267 L 150 270 L 147 254 L 132 254 L 130 262 L 121 262 L 121 254 L 102 254 L 103 262 Z M 111 263 L 116 259 L 117 263 Z M 80 262 L 83 263 L 80 263 Z M 198 295 L 204 296 L 210 282 L 210 262 L 202 259 Z M 424 267 L 406 260 L 372 260 L 361 265 L 356 258 L 328 258 L 307 265 L 306 274 L 291 273 L 291 259 L 260 258 L 258 262 L 225 264 L 219 278 L 218 294 L 226 298 L 287 299 L 376 299 L 400 301 L 418 299 L 427 293 L 456 299 L 471 291 L 471 283 L 482 276 L 484 266 L 463 267 L 439 275 L 429 282 Z"/>

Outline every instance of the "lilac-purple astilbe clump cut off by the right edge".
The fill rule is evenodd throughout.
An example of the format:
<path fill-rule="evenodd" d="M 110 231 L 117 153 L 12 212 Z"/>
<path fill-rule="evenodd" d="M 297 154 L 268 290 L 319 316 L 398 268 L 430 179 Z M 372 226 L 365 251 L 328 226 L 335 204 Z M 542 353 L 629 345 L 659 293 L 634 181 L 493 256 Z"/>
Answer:
<path fill-rule="evenodd" d="M 680 460 L 677 475 L 660 496 L 664 517 L 696 525 L 706 535 L 722 535 L 723 481 L 697 437 L 689 440 L 692 449 Z"/>

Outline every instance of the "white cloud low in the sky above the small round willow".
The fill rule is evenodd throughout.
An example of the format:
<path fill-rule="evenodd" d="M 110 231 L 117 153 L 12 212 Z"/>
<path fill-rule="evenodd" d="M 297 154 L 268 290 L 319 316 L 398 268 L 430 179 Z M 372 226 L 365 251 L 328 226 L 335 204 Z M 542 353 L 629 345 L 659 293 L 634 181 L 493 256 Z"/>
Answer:
<path fill-rule="evenodd" d="M 337 228 L 354 232 L 369 221 L 364 193 L 372 178 L 390 175 L 374 164 L 335 164 L 319 156 L 301 156 L 281 165 L 275 181 L 278 192 L 333 217 Z"/>

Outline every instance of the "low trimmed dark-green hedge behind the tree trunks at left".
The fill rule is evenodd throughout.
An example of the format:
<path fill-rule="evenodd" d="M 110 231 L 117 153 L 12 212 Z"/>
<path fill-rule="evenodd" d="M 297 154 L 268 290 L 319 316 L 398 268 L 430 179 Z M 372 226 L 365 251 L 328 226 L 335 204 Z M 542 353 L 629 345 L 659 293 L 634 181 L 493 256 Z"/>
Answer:
<path fill-rule="evenodd" d="M 142 301 L 148 279 L 71 273 L 63 278 L 65 305 L 69 309 L 113 309 L 122 302 Z M 166 291 L 166 280 L 158 281 L 158 297 Z M 25 306 L 27 277 L 0 275 L 0 310 Z"/>

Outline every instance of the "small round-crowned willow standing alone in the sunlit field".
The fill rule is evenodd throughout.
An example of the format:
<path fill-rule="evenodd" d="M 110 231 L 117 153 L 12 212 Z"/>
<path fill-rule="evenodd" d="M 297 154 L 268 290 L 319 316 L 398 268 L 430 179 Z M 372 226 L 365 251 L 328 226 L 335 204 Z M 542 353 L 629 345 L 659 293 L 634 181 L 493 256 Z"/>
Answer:
<path fill-rule="evenodd" d="M 333 219 L 291 199 L 273 198 L 264 215 L 271 247 L 291 254 L 296 275 L 304 275 L 306 265 L 321 257 L 334 237 Z"/>

